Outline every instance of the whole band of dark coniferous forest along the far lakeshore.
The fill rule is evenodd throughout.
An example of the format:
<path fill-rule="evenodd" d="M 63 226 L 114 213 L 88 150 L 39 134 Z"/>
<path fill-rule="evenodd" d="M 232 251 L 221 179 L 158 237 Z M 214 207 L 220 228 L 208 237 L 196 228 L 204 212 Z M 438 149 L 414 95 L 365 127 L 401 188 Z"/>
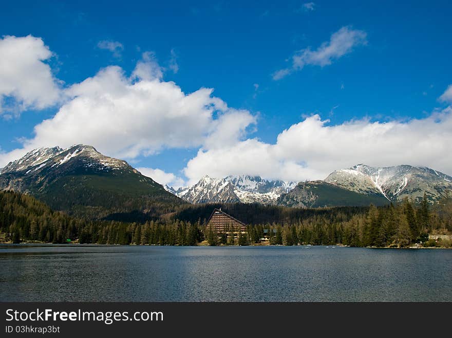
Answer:
<path fill-rule="evenodd" d="M 206 228 L 214 208 L 243 221 L 246 234 L 216 234 Z M 155 212 L 155 210 L 154 210 Z M 137 213 L 141 215 L 140 213 Z M 158 219 L 135 222 L 74 218 L 35 198 L 0 191 L 0 242 L 149 245 L 349 245 L 374 247 L 441 246 L 447 239 L 428 235 L 452 232 L 452 198 L 431 205 L 405 200 L 382 207 L 288 208 L 259 204 L 179 206 Z M 262 241 L 266 238 L 266 241 Z"/>

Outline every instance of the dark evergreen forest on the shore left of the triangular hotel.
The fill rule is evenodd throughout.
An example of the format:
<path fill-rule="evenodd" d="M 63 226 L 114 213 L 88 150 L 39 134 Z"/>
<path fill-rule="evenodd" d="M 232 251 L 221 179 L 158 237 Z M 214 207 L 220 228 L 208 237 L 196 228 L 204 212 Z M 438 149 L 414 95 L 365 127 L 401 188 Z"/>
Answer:
<path fill-rule="evenodd" d="M 13 243 L 67 243 L 69 239 L 98 244 L 196 245 L 203 240 L 199 223 L 78 219 L 13 191 L 0 191 L 0 235 L 0 240 Z"/>

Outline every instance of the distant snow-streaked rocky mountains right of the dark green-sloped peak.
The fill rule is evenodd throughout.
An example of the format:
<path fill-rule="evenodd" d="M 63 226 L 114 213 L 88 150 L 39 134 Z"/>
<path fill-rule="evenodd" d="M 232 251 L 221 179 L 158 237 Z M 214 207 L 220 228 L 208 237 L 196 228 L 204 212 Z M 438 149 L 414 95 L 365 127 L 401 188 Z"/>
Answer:
<path fill-rule="evenodd" d="M 190 203 L 261 203 L 289 207 L 385 205 L 410 198 L 431 203 L 452 192 L 452 177 L 427 167 L 364 164 L 336 170 L 325 180 L 268 181 L 259 176 L 204 176 L 193 186 L 168 191 Z"/>

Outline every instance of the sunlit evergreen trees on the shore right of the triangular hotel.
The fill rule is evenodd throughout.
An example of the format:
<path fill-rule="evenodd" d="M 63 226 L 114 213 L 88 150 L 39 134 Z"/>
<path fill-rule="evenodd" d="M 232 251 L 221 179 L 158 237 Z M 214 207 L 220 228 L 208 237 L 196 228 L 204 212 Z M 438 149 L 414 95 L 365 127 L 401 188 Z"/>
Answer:
<path fill-rule="evenodd" d="M 431 206 L 424 196 L 419 205 L 406 199 L 398 205 L 373 205 L 366 212 L 346 214 L 343 208 L 331 208 L 329 213 L 311 210 L 307 218 L 281 225 L 276 222 L 248 225 L 246 234 L 231 236 L 227 229 L 215 233 L 206 229 L 210 245 L 249 245 L 261 243 L 266 237 L 273 245 L 349 245 L 376 247 L 406 247 L 415 243 L 437 246 L 428 239 L 429 233 L 452 232 L 452 199 Z M 314 211 L 314 212 L 312 212 Z M 318 211 L 318 210 L 317 210 Z M 450 246 L 444 242 L 441 246 Z"/>

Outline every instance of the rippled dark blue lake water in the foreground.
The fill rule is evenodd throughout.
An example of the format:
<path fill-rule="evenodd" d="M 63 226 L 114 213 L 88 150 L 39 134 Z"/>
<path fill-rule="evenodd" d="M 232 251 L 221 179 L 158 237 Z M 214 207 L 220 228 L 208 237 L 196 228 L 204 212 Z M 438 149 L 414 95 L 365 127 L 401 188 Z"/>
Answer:
<path fill-rule="evenodd" d="M 0 301 L 452 301 L 452 250 L 0 245 Z"/>

